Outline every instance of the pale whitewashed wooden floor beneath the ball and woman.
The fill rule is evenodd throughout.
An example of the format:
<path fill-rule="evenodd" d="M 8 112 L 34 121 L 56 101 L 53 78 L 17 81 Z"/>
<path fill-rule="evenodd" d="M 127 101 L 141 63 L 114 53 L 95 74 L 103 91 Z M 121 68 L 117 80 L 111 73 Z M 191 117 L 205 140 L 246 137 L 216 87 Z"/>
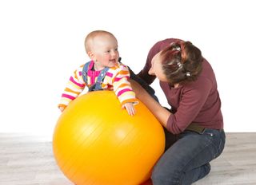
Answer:
<path fill-rule="evenodd" d="M 193 185 L 256 184 L 256 132 L 227 133 L 226 148 L 212 171 Z M 45 138 L 0 134 L 1 185 L 71 185 L 54 161 Z"/>

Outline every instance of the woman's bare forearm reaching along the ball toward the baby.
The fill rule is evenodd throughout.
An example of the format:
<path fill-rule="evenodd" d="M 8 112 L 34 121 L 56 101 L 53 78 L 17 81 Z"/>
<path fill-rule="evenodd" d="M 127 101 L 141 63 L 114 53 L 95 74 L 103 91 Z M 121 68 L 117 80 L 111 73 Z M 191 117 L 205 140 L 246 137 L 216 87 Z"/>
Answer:
<path fill-rule="evenodd" d="M 170 112 L 163 108 L 145 89 L 142 88 L 136 81 L 130 80 L 130 84 L 137 98 L 150 109 L 150 112 L 158 119 L 162 126 L 166 127 L 167 120 L 170 116 Z"/>

